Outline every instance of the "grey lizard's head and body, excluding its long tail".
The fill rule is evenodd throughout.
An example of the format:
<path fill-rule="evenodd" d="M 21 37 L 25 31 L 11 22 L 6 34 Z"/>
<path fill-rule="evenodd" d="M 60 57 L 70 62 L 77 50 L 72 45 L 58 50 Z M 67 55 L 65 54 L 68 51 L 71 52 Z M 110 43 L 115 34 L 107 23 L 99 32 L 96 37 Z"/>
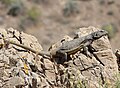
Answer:
<path fill-rule="evenodd" d="M 91 48 L 91 44 L 94 40 L 97 40 L 107 34 L 108 32 L 104 30 L 99 30 L 84 37 L 76 38 L 71 41 L 66 41 L 62 44 L 61 47 L 52 51 L 51 55 L 61 57 L 60 59 L 62 59 L 63 61 L 58 63 L 63 63 L 67 61 L 68 55 L 75 54 L 76 52 L 81 51 L 81 49 L 85 50 L 86 47 Z"/>

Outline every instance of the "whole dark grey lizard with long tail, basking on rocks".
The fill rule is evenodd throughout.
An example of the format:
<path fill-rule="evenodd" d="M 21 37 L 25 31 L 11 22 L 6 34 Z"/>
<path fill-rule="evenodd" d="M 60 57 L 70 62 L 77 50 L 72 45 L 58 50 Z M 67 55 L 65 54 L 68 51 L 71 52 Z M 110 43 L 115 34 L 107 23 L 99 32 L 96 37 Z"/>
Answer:
<path fill-rule="evenodd" d="M 75 54 L 78 51 L 85 51 L 86 52 L 86 48 L 88 48 L 88 50 L 90 50 L 90 51 L 95 51 L 94 48 L 91 46 L 92 42 L 94 40 L 97 40 L 97 39 L 101 38 L 102 36 L 105 36 L 105 35 L 108 35 L 107 31 L 99 30 L 99 31 L 96 31 L 96 32 L 92 32 L 92 33 L 90 33 L 86 36 L 80 37 L 80 38 L 75 38 L 75 39 L 70 40 L 70 41 L 64 41 L 62 43 L 62 45 L 60 47 L 58 47 L 57 49 L 54 49 L 54 50 L 51 50 L 51 51 L 39 51 L 39 52 L 34 50 L 34 49 L 31 49 L 27 46 L 24 46 L 22 44 L 15 43 L 13 41 L 9 41 L 9 40 L 8 41 L 5 40 L 5 41 L 7 41 L 11 44 L 20 46 L 20 47 L 22 47 L 26 50 L 29 50 L 33 53 L 37 53 L 38 55 L 41 55 L 41 56 L 44 56 L 44 57 L 47 56 L 46 58 L 49 58 L 49 59 L 57 57 L 57 60 L 58 60 L 57 63 L 61 64 L 61 63 L 64 63 L 65 61 L 68 60 L 67 58 L 68 58 L 69 55 Z M 100 63 L 102 63 L 102 62 L 100 62 Z"/>

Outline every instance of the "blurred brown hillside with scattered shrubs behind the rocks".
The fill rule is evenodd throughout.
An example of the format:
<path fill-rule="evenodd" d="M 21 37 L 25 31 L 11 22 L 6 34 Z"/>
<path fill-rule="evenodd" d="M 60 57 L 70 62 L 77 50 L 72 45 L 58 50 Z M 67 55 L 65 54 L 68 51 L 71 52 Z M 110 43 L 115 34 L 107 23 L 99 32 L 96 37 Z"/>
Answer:
<path fill-rule="evenodd" d="M 0 0 L 0 27 L 37 37 L 44 49 L 80 27 L 109 31 L 113 49 L 120 47 L 119 0 Z"/>

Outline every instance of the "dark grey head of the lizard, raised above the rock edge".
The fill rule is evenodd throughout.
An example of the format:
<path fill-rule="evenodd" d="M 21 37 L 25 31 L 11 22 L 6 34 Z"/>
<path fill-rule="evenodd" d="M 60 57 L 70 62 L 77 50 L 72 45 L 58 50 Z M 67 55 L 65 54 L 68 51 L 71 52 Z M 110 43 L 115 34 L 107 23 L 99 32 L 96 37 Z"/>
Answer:
<path fill-rule="evenodd" d="M 93 39 L 99 39 L 102 36 L 108 35 L 108 32 L 105 30 L 99 30 L 92 33 Z"/>

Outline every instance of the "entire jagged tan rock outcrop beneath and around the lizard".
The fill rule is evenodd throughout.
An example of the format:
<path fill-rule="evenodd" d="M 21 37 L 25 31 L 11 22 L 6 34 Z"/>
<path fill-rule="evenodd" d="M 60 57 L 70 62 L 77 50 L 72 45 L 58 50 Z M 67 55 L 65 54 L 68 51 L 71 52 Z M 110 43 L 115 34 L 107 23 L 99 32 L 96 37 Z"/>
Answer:
<path fill-rule="evenodd" d="M 85 36 L 99 29 L 80 28 L 77 37 Z M 64 64 L 57 64 L 31 51 L 13 44 L 5 44 L 3 38 L 28 46 L 36 51 L 43 50 L 34 36 L 12 28 L 0 29 L 0 88 L 102 88 L 113 87 L 118 74 L 116 57 L 111 50 L 107 36 L 93 42 L 97 50 L 92 58 L 79 51 Z M 4 37 L 3 37 L 4 36 Z M 49 50 L 61 46 L 73 38 L 65 36 Z M 100 59 L 104 66 L 96 59 Z"/>

